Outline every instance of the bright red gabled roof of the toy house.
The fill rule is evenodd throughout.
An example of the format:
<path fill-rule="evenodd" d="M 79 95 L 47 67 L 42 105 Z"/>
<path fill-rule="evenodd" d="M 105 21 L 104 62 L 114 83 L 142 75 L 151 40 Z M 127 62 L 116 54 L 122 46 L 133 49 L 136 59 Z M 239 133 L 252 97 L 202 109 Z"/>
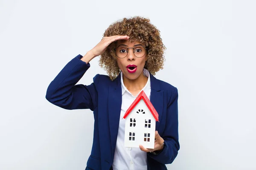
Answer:
<path fill-rule="evenodd" d="M 158 120 L 158 113 L 152 103 L 149 101 L 147 95 L 145 94 L 144 91 L 140 92 L 139 96 L 134 100 L 134 102 L 131 104 L 131 106 L 128 108 L 128 110 L 125 113 L 125 116 L 123 117 L 124 119 L 131 113 L 131 111 L 134 109 L 134 107 L 140 102 L 140 100 L 143 99 L 145 104 L 147 105 L 149 111 L 151 114 L 154 116 L 154 119 L 159 122 Z"/>

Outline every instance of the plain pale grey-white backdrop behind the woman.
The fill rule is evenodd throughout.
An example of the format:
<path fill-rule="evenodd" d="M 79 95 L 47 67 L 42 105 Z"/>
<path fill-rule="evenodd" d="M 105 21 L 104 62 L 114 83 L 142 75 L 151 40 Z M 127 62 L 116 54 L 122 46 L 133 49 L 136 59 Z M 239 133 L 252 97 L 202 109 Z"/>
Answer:
<path fill-rule="evenodd" d="M 169 170 L 255 170 L 253 0 L 0 0 L 0 169 L 84 170 L 90 110 L 45 99 L 49 83 L 123 17 L 143 16 L 167 47 L 156 75 L 179 90 L 180 151 Z M 93 59 L 79 83 L 106 74 Z"/>

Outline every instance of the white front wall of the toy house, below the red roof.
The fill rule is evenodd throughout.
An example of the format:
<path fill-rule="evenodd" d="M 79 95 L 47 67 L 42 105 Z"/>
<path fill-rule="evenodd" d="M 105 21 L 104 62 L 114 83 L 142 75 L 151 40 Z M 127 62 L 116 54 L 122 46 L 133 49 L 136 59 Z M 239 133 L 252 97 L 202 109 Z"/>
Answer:
<path fill-rule="evenodd" d="M 137 111 L 140 109 L 140 112 L 137 113 Z M 143 114 L 143 112 L 145 114 Z M 130 119 L 136 119 L 136 126 L 130 127 Z M 150 128 L 145 127 L 145 119 L 150 119 L 151 122 L 147 123 L 147 126 L 150 125 Z M 132 122 L 134 123 L 134 122 Z M 148 107 L 146 106 L 143 99 L 140 100 L 140 102 L 134 107 L 134 109 L 131 111 L 131 113 L 126 117 L 125 120 L 125 147 L 139 147 L 140 144 L 142 144 L 145 148 L 154 148 L 154 134 L 155 134 L 155 126 L 156 126 L 156 120 L 154 119 L 154 116 L 149 111 Z M 135 140 L 129 140 L 130 132 L 135 133 Z M 144 142 L 144 133 L 146 133 L 146 139 L 149 142 Z M 148 137 L 148 133 L 150 134 L 150 137 Z"/>

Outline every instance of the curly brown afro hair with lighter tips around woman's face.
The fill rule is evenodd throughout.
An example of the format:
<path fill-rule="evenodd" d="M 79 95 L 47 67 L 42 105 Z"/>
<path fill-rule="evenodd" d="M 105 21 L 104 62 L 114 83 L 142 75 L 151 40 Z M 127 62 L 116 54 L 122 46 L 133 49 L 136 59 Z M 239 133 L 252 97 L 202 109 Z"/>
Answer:
<path fill-rule="evenodd" d="M 131 42 L 138 41 L 145 45 L 147 61 L 144 68 L 151 74 L 155 75 L 157 71 L 163 69 L 165 61 L 163 53 L 166 47 L 160 38 L 160 31 L 150 23 L 149 19 L 132 17 L 116 21 L 105 30 L 103 37 L 113 35 L 128 35 Z M 99 65 L 107 71 L 112 81 L 120 73 L 116 62 L 115 45 L 116 42 L 112 42 L 99 59 Z"/>

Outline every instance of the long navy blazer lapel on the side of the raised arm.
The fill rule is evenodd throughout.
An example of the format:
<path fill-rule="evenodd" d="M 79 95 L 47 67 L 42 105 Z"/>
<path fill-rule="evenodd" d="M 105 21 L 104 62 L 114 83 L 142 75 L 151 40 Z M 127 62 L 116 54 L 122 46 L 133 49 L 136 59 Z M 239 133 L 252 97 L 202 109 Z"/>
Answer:
<path fill-rule="evenodd" d="M 122 88 L 120 74 L 113 81 L 113 86 L 108 88 L 108 120 L 111 136 L 112 156 L 115 153 L 116 139 L 119 128 L 120 111 L 122 105 Z"/>

